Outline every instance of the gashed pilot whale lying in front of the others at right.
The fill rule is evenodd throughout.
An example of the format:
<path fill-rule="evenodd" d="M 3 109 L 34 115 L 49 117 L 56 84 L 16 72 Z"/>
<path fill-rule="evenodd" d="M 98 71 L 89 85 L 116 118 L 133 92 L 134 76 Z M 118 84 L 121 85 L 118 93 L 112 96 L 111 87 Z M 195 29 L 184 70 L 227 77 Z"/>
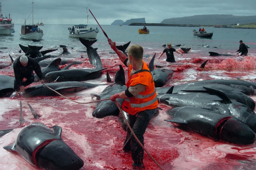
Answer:
<path fill-rule="evenodd" d="M 197 107 L 175 107 L 168 110 L 171 120 L 202 136 L 239 145 L 252 144 L 255 133 L 237 118 Z"/>

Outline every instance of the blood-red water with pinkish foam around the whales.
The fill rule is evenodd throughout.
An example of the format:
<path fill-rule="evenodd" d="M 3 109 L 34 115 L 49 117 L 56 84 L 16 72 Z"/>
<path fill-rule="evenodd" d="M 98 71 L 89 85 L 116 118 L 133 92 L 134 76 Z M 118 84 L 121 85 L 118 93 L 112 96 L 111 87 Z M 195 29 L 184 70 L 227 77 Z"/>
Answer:
<path fill-rule="evenodd" d="M 154 54 L 151 51 L 148 53 L 151 56 Z M 101 54 L 99 55 L 101 56 Z M 168 66 L 168 68 L 174 70 L 172 79 L 164 87 L 189 81 L 218 78 L 240 78 L 250 79 L 251 81 L 256 78 L 255 70 L 253 69 L 224 70 L 224 68 L 255 68 L 255 56 L 239 58 L 212 57 L 205 66 L 205 68 L 222 68 L 223 70 L 200 69 L 200 65 L 209 59 L 207 56 L 183 54 L 183 57 L 177 56 L 177 58 L 177 63 L 166 63 L 164 57 L 161 60 L 155 60 L 155 65 Z M 76 58 L 75 60 L 84 61 L 85 63 L 73 65 L 72 69 L 94 68 L 89 64 L 87 58 Z M 114 81 L 115 73 L 119 69 L 118 65 L 124 65 L 118 60 L 116 54 L 104 54 L 101 60 L 103 68 L 108 67 L 111 79 Z M 144 58 L 147 64 L 150 60 L 151 57 Z M 124 67 L 124 70 L 127 79 L 127 68 Z M 101 78 L 86 82 L 105 84 L 106 71 L 102 72 Z M 0 74 L 13 75 L 12 68 L 2 69 Z M 90 98 L 90 94 L 100 94 L 106 86 L 98 86 L 66 96 L 75 101 L 90 102 L 94 101 L 94 99 Z M 252 98 L 256 100 L 256 98 Z M 59 96 L 0 99 L 0 129 L 17 128 L 0 137 L 1 169 L 37 169 L 29 165 L 17 153 L 3 149 L 4 146 L 11 145 L 24 128 L 24 126 L 23 128 L 18 128 L 19 100 L 23 104 L 24 126 L 33 122 L 41 122 L 48 127 L 53 125 L 61 126 L 63 140 L 84 161 L 82 169 L 131 169 L 131 155 L 122 150 L 126 132 L 122 130 L 118 117 L 108 116 L 97 119 L 91 115 L 96 103 L 78 104 Z M 27 103 L 41 115 L 39 119 L 33 118 Z M 144 135 L 144 145 L 145 149 L 163 169 L 255 169 L 256 143 L 237 146 L 179 129 L 177 124 L 164 121 L 169 119 L 165 112 L 171 107 L 161 103 L 159 103 L 158 107 L 162 110 L 148 125 Z M 144 153 L 144 164 L 146 169 L 160 169 L 147 153 Z"/>

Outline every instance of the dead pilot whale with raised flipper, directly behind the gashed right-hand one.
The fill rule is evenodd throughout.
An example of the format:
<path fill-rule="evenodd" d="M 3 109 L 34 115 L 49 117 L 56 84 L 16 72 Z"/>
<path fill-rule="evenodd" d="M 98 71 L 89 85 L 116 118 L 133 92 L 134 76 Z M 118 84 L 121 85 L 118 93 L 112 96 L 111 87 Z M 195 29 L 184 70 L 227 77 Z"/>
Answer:
<path fill-rule="evenodd" d="M 196 92 L 190 94 L 165 94 L 157 95 L 157 98 L 160 103 L 174 107 L 200 107 L 236 117 L 256 132 L 256 115 L 252 109 L 242 103 L 230 100 L 221 90 L 206 87 L 205 89 L 208 90 L 209 94 Z"/>

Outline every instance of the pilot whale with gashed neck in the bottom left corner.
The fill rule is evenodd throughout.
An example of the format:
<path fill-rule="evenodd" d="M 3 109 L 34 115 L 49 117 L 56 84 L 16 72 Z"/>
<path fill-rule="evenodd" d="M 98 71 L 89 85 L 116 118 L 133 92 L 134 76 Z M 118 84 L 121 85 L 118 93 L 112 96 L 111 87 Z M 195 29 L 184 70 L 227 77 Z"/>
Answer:
<path fill-rule="evenodd" d="M 32 123 L 20 131 L 15 143 L 4 149 L 19 153 L 39 168 L 79 170 L 84 162 L 62 140 L 62 128 L 55 125 L 52 129 L 42 123 Z"/>

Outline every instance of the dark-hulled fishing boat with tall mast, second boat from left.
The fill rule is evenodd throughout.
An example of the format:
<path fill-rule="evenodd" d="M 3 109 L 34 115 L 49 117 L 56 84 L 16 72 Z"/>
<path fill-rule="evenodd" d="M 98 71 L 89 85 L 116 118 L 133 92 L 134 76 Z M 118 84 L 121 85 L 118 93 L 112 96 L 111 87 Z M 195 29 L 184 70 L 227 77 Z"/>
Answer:
<path fill-rule="evenodd" d="M 34 15 L 34 2 L 32 2 L 32 18 Z M 25 24 L 22 25 L 21 31 L 19 33 L 20 37 L 24 38 L 24 39 L 31 39 L 31 40 L 41 40 L 43 37 L 43 30 L 41 30 L 40 28 L 38 28 L 38 26 L 36 26 L 34 24 L 34 21 L 32 19 L 32 25 L 26 25 L 26 20 L 25 20 Z"/>

